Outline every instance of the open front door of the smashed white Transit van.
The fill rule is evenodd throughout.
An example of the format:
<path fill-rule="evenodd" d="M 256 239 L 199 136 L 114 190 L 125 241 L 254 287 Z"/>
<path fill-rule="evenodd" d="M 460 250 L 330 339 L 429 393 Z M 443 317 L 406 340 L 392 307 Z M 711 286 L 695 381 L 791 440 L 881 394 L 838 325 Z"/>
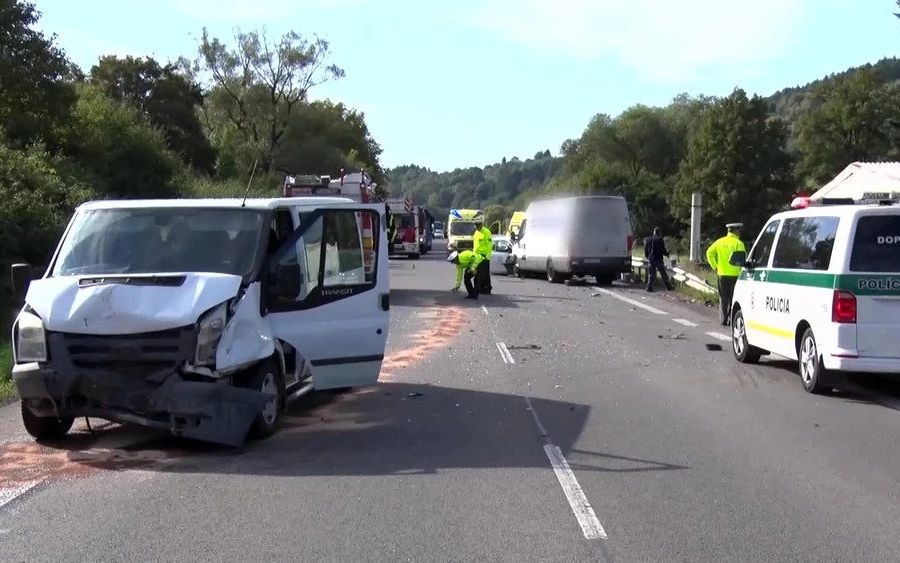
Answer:
<path fill-rule="evenodd" d="M 378 381 L 390 323 L 381 209 L 347 203 L 303 214 L 265 264 L 263 314 L 276 338 L 309 362 L 316 389 Z M 366 267 L 367 259 L 377 267 Z"/>

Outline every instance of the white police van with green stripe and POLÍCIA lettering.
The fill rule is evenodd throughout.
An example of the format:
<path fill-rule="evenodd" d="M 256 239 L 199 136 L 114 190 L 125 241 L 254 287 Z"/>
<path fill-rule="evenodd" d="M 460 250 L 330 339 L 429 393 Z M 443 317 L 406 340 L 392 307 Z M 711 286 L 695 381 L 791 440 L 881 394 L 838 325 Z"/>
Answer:
<path fill-rule="evenodd" d="M 833 374 L 900 373 L 900 200 L 799 198 L 773 215 L 732 301 L 732 348 L 742 363 L 797 360 L 803 388 L 830 391 Z"/>

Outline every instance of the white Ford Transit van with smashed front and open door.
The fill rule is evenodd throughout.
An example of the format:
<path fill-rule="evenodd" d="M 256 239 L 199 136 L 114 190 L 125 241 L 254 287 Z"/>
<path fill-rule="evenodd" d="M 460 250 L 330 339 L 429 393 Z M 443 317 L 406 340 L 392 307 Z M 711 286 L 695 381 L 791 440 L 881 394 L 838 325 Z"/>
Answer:
<path fill-rule="evenodd" d="M 383 217 L 335 197 L 81 205 L 41 279 L 13 267 L 26 430 L 58 439 L 90 416 L 239 446 L 313 389 L 375 384 Z"/>

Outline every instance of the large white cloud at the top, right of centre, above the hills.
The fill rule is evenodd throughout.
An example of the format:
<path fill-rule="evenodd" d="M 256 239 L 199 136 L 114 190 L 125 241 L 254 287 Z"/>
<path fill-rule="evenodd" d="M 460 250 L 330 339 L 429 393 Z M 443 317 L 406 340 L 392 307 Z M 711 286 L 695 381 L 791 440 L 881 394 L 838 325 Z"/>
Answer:
<path fill-rule="evenodd" d="M 755 73 L 807 0 L 481 0 L 470 25 L 546 54 L 611 56 L 656 82 Z"/>

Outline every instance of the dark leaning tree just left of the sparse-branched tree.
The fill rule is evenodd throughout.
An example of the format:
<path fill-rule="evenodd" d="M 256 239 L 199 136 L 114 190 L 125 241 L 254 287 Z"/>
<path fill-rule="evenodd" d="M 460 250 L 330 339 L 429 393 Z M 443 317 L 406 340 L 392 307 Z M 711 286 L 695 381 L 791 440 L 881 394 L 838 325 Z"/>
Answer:
<path fill-rule="evenodd" d="M 203 133 L 196 108 L 203 104 L 200 87 L 173 64 L 152 58 L 101 57 L 90 80 L 107 96 L 137 107 L 162 129 L 168 147 L 194 169 L 211 174 L 216 153 Z"/>

